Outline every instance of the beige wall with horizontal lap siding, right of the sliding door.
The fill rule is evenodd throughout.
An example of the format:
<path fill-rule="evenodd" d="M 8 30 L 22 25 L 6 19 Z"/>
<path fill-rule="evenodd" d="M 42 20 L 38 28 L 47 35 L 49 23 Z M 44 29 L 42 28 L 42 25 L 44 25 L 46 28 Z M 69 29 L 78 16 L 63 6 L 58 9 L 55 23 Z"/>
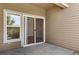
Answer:
<path fill-rule="evenodd" d="M 54 6 L 47 10 L 47 42 L 79 51 L 79 4 L 69 8 Z"/>

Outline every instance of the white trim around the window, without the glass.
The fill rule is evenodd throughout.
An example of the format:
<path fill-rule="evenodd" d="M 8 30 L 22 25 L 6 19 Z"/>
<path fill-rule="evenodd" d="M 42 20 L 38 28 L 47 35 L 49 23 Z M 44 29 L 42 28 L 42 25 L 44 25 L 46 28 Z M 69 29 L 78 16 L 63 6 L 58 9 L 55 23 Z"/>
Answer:
<path fill-rule="evenodd" d="M 21 41 L 21 28 L 20 28 L 20 39 L 7 40 L 7 13 L 17 14 L 17 15 L 21 16 L 21 12 L 12 11 L 12 10 L 8 10 L 8 9 L 3 10 L 3 43 Z M 18 26 L 16 26 L 16 27 L 18 27 Z"/>

